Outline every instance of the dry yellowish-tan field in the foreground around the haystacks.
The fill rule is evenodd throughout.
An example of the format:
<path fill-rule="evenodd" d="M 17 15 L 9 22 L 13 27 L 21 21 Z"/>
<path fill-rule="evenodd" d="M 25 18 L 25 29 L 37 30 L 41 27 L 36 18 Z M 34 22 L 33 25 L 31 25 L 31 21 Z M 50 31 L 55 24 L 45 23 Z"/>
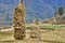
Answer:
<path fill-rule="evenodd" d="M 0 32 L 0 43 L 65 43 L 65 30 L 41 30 L 41 40 L 30 39 L 30 30 L 27 30 L 26 38 L 14 40 L 13 30 Z"/>

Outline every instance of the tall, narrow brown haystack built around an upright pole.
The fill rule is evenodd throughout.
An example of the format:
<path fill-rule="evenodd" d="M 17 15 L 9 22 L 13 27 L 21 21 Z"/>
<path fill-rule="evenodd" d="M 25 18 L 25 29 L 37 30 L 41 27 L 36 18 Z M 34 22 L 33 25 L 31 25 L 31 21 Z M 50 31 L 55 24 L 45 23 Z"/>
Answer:
<path fill-rule="evenodd" d="M 15 8 L 13 17 L 14 38 L 16 40 L 23 40 L 26 35 L 25 18 L 24 18 L 25 8 L 22 1 L 23 0 L 20 0 L 18 5 Z"/>

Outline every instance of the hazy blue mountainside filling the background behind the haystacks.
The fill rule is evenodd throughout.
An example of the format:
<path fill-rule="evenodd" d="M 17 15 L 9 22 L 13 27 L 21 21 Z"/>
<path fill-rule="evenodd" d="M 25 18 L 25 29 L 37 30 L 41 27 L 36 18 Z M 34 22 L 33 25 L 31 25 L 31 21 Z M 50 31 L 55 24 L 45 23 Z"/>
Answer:
<path fill-rule="evenodd" d="M 0 0 L 0 17 L 6 18 L 6 14 L 12 18 L 14 8 L 17 5 L 18 0 Z M 65 0 L 24 0 L 26 6 L 27 19 L 32 19 L 32 15 L 40 19 L 52 18 L 54 11 L 58 6 L 65 5 Z M 4 16 L 3 16 L 4 15 Z"/>

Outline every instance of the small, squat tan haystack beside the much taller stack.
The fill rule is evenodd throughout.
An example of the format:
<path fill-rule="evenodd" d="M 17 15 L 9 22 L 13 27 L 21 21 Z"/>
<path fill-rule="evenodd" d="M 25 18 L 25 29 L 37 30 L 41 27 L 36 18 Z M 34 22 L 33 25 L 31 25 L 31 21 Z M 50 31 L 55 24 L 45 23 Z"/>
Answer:
<path fill-rule="evenodd" d="M 38 26 L 32 26 L 32 29 L 30 31 L 30 38 L 41 40 L 41 31 Z"/>

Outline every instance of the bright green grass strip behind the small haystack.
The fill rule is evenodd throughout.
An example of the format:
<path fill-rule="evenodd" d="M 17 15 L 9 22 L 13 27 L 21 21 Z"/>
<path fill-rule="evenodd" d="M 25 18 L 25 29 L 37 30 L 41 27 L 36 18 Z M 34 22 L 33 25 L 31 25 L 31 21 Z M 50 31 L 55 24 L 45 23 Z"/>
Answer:
<path fill-rule="evenodd" d="M 27 29 L 31 29 L 31 26 L 26 27 Z M 65 26 L 50 25 L 50 26 L 39 26 L 40 29 L 65 29 Z"/>

